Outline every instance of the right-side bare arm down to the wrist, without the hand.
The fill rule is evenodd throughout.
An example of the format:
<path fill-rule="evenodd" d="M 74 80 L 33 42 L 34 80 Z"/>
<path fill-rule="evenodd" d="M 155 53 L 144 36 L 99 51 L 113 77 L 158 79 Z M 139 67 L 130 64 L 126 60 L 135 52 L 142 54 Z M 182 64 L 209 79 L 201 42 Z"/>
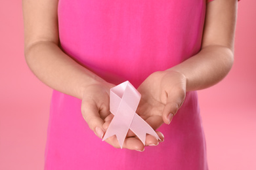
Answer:
<path fill-rule="evenodd" d="M 237 1 L 207 3 L 202 50 L 171 68 L 186 76 L 186 91 L 213 86 L 230 71 L 234 59 Z"/>

